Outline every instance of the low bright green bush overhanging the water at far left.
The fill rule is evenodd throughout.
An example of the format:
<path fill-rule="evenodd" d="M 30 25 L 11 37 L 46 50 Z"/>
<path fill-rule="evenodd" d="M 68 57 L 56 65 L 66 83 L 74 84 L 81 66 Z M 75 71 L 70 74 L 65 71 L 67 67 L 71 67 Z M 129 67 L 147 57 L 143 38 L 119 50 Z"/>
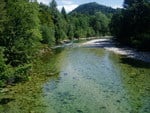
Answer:
<path fill-rule="evenodd" d="M 28 80 L 28 72 L 32 65 L 25 64 L 18 67 L 6 65 L 3 51 L 4 49 L 0 48 L 0 87 L 4 87 L 6 84 Z"/>

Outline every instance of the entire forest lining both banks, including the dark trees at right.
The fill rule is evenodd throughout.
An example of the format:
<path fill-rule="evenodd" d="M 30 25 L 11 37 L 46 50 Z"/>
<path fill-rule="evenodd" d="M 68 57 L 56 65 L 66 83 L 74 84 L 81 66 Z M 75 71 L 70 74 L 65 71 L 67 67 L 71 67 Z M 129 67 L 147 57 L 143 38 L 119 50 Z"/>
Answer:
<path fill-rule="evenodd" d="M 150 50 L 149 0 L 125 0 L 124 8 L 116 10 L 85 9 L 67 14 L 65 8 L 58 11 L 55 0 L 49 5 L 1 0 L 0 87 L 28 80 L 39 51 L 63 40 L 113 35 L 121 44 Z"/>

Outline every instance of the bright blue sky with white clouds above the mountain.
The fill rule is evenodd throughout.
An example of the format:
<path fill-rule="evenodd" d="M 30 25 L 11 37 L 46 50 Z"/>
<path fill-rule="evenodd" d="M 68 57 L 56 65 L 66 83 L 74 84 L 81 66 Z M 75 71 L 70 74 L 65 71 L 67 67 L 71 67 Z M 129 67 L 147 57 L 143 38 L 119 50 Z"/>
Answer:
<path fill-rule="evenodd" d="M 51 0 L 37 0 L 39 3 L 49 4 Z M 102 5 L 111 6 L 113 8 L 121 8 L 124 0 L 56 0 L 57 7 L 61 10 L 65 7 L 66 12 L 70 12 L 81 4 L 89 2 L 97 2 Z"/>

